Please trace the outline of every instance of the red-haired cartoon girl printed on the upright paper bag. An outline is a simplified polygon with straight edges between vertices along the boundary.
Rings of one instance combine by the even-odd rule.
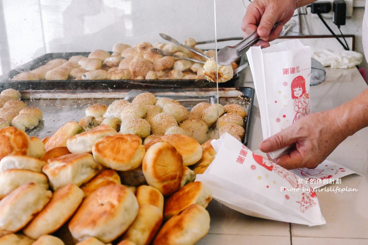
[[[307,115],[307,107],[309,103],[309,93],[305,90],[305,79],[297,76],[291,82],[291,98],[294,100],[294,110],[297,112],[293,123],[302,116]]]

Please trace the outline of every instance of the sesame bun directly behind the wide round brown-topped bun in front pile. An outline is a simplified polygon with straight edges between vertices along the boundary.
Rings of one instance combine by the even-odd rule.
[[[151,126],[149,126],[149,123],[143,118],[122,117],[120,133],[134,134],[141,138],[145,138],[151,133]]]

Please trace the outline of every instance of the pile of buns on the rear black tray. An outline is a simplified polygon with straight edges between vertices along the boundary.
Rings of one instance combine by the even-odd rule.
[[[193,38],[186,39],[184,44],[208,57],[215,55],[215,50],[203,51],[195,47],[197,42]],[[206,58],[201,55],[174,43],[158,42],[152,45],[142,42],[133,47],[116,43],[112,47],[112,54],[98,49],[92,51],[88,57],[75,55],[68,60],[57,58],[32,71],[22,72],[11,80],[205,79],[203,64],[162,56],[154,53],[151,48],[158,48],[202,62],[206,61]],[[233,69],[238,67],[234,62],[231,66]],[[231,78],[232,73],[227,80]]]

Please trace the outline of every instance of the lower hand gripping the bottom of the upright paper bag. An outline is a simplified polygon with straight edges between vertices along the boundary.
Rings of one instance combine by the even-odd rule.
[[[323,162],[350,131],[342,129],[332,111],[316,112],[265,139],[259,149],[272,152],[294,145],[291,152],[276,159],[286,169],[314,168]]]

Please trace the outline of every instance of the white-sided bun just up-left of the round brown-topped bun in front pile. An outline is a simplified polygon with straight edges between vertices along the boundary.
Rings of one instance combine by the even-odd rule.
[[[109,125],[103,124],[90,131],[68,138],[67,147],[71,153],[91,153],[93,145],[105,136],[117,134]]]

